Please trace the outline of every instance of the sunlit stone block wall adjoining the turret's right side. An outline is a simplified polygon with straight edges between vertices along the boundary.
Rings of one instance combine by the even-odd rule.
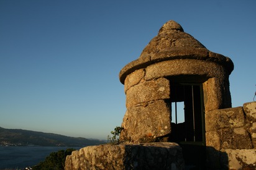
[[[256,168],[256,102],[245,103],[243,107],[206,111],[205,127],[211,167],[216,166],[216,160],[223,158],[223,154],[216,155],[211,151],[213,147],[226,154],[229,169]],[[223,163],[219,164],[223,166]]]

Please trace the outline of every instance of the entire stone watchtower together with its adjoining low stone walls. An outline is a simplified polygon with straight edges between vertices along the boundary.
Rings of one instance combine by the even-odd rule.
[[[73,151],[65,169],[255,169],[256,102],[231,108],[233,69],[168,21],[119,74],[120,142]]]

